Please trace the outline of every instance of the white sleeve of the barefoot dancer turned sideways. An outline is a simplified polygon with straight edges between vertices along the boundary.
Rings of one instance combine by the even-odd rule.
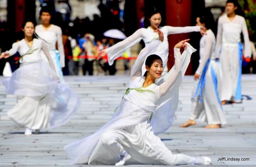
[[[212,52],[214,52],[214,50],[212,49],[212,38],[210,36],[206,36],[206,46],[204,49],[204,55],[200,56],[201,61],[196,70],[196,73],[200,76],[202,75],[204,66],[206,65],[208,59],[211,57]]]

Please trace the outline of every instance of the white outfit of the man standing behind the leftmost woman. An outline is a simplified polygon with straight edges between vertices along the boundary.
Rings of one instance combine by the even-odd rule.
[[[37,25],[35,32],[46,42],[50,55],[52,56],[55,69],[61,82],[63,81],[62,68],[65,67],[65,54],[64,46],[62,42],[62,30],[59,26],[51,25],[48,30],[45,30],[42,25]],[[56,50],[56,42],[58,44],[58,50]],[[49,63],[45,54],[41,52],[42,60]]]

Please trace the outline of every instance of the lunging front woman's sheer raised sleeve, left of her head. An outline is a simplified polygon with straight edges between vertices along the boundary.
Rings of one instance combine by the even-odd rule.
[[[140,51],[131,69],[131,74],[130,74],[131,81],[134,80],[136,77],[142,76],[142,66],[144,64],[146,56],[148,56],[149,53],[151,53],[151,51],[154,52],[154,50],[158,47],[160,43],[161,43],[160,40],[155,40]]]

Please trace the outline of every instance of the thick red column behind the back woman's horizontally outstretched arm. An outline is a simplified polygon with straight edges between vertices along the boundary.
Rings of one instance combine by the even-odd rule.
[[[191,26],[191,0],[166,0],[166,25]],[[190,38],[190,33],[171,34],[168,36],[169,60],[168,69],[174,65],[174,45],[179,41]],[[188,66],[186,75],[192,75],[192,65]]]

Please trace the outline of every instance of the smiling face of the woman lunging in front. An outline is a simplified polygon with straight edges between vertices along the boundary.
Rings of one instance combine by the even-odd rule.
[[[150,67],[146,66],[146,70],[148,71],[148,74],[151,75],[152,78],[159,79],[162,75],[162,72],[164,71],[164,68],[162,66],[162,60],[154,60]]]

